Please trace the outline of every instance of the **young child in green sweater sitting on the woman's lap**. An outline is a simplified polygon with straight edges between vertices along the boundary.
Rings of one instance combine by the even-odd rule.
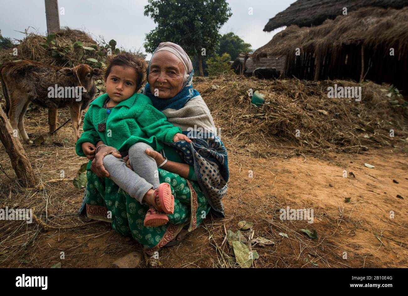
[[[144,225],[161,226],[169,221],[164,213],[174,212],[174,197],[170,184],[159,184],[157,164],[145,151],[160,151],[163,143],[191,140],[181,134],[180,127],[167,122],[166,116],[153,107],[148,96],[136,93],[145,73],[144,60],[133,54],[121,53],[108,59],[104,73],[106,94],[89,104],[84,132],[75,148],[79,156],[90,159],[87,170],[98,148],[103,146],[95,147],[94,143],[99,140],[118,149],[122,157],[129,155],[133,171],[126,167],[122,158],[112,154],[104,157],[104,167],[109,178],[130,196],[141,204],[153,205],[146,214]],[[164,213],[155,213],[155,210]]]

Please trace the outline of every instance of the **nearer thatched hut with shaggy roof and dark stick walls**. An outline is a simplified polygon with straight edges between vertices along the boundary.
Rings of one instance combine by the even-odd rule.
[[[366,7],[319,26],[292,25],[255,50],[252,59],[280,55],[288,57],[288,77],[356,81],[365,78],[393,83],[407,95],[408,7]]]

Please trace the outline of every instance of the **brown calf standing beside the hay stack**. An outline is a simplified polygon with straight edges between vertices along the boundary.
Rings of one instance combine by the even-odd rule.
[[[24,129],[24,114],[30,102],[49,111],[69,107],[75,140],[78,140],[82,113],[95,96],[93,78],[98,75],[98,68],[85,64],[58,68],[35,61],[4,63],[0,67],[0,81],[11,127],[15,131],[18,128],[23,140],[32,144]]]

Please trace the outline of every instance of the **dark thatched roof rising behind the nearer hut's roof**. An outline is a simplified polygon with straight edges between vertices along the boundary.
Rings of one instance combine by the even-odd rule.
[[[347,12],[350,12],[368,6],[401,9],[407,5],[407,0],[298,0],[271,18],[264,31],[271,32],[290,25],[317,26],[326,19],[341,15],[343,7],[347,7]]]

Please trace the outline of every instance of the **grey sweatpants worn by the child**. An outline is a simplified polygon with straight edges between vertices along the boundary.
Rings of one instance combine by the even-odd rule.
[[[126,167],[122,158],[109,154],[103,159],[109,178],[141,204],[146,204],[143,197],[147,191],[157,189],[160,184],[156,161],[146,154],[147,148],[154,150],[145,143],[135,143],[129,148],[129,161],[133,171]]]

